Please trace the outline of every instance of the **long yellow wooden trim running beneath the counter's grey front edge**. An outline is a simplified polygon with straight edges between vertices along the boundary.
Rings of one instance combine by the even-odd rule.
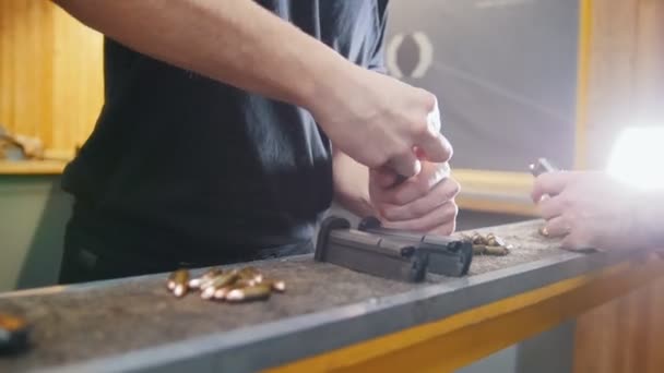
[[[664,262],[621,263],[269,372],[450,372],[664,276]]]

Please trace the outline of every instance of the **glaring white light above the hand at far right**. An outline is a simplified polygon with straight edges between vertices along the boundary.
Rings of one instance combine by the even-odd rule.
[[[664,127],[625,129],[614,145],[607,172],[641,190],[664,189]]]

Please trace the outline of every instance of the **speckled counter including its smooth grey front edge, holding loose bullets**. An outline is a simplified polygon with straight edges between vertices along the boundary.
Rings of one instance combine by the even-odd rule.
[[[198,294],[176,299],[165,288],[165,274],[2,294],[0,312],[24,315],[34,325],[34,345],[20,357],[0,358],[0,372],[163,372],[178,366],[179,354],[187,361],[213,359],[212,365],[204,365],[213,369],[262,369],[438,320],[607,263],[593,264],[586,255],[559,250],[556,241],[538,236],[538,225],[481,229],[501,236],[513,245],[512,252],[475,256],[469,277],[428,278],[417,285],[317,263],[306,255],[252,264],[287,282],[285,293],[265,302],[228,304],[203,301]],[[320,333],[325,338],[317,339],[324,340],[311,339]]]

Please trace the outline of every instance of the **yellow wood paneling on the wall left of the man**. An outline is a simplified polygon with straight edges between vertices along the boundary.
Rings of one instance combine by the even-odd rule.
[[[0,0],[0,123],[73,155],[103,104],[102,40],[50,1]]]

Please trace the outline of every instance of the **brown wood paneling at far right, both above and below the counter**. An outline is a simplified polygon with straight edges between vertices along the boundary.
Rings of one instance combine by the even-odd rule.
[[[664,125],[664,0],[593,0],[586,166],[604,167],[620,130]],[[664,372],[664,280],[578,320],[574,372]]]

